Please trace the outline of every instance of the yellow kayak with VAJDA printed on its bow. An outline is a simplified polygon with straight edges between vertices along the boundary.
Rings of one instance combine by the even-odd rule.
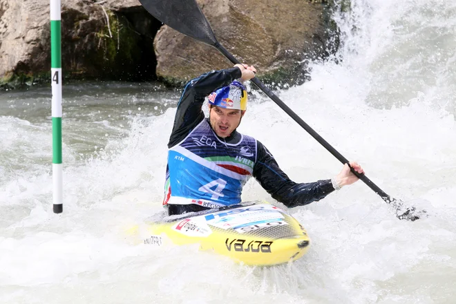
[[[145,244],[200,244],[246,265],[278,265],[301,258],[310,247],[303,226],[265,202],[244,202],[145,222]]]

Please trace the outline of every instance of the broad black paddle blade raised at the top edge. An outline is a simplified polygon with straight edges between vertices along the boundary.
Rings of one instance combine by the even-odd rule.
[[[217,44],[211,26],[194,0],[140,0],[156,19],[184,35],[214,46]]]

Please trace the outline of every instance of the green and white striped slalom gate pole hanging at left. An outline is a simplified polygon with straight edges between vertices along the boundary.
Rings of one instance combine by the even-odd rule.
[[[50,77],[53,90],[53,210],[63,211],[61,164],[61,0],[50,0]]]

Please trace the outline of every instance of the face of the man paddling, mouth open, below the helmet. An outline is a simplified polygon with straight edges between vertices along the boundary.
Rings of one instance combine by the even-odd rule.
[[[209,105],[209,113],[213,131],[216,131],[219,137],[225,138],[238,127],[240,118],[243,117],[245,111]]]

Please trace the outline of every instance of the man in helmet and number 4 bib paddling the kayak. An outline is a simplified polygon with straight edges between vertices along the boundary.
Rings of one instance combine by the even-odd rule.
[[[163,205],[169,215],[237,204],[251,176],[287,207],[321,200],[358,180],[345,164],[332,179],[293,182],[261,142],[236,131],[247,110],[243,82],[255,74],[254,66],[236,64],[201,75],[185,86],[168,143]],[[209,117],[202,111],[206,97]],[[363,173],[356,162],[350,166]]]

